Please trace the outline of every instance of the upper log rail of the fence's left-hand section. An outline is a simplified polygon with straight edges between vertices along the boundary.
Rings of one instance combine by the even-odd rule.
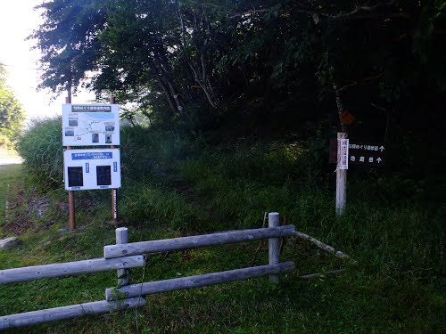
[[[65,262],[53,265],[35,265],[0,270],[0,284],[33,281],[43,278],[63,277],[81,273],[104,272],[144,266],[144,257],[94,258],[91,260]]]

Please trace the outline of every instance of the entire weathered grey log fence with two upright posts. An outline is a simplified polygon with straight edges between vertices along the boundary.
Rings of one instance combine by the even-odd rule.
[[[128,243],[128,229],[121,227],[116,229],[117,244],[105,246],[103,258],[0,270],[0,284],[117,270],[119,289],[106,289],[105,300],[102,301],[1,316],[0,330],[142,306],[145,305],[142,296],[153,293],[242,281],[260,276],[269,276],[270,281],[277,283],[279,274],[294,270],[293,262],[279,263],[279,239],[294,234],[293,225],[279,226],[277,212],[268,214],[268,228],[217,232],[167,240]],[[128,269],[144,266],[143,254],[262,239],[269,240],[268,265],[128,285]]]

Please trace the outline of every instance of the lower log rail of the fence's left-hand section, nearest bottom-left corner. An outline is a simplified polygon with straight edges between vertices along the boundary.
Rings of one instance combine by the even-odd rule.
[[[92,303],[48,308],[45,310],[27,312],[24,314],[5,315],[0,317],[0,330],[37,325],[43,322],[54,322],[56,320],[77,318],[87,314],[107,314],[112,311],[143,305],[145,305],[145,299],[136,297],[114,302],[102,300]]]

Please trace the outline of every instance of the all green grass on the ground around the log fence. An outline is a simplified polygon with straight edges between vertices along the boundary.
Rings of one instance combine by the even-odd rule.
[[[129,240],[260,227],[263,212],[277,210],[287,224],[343,250],[357,265],[291,239],[281,260],[293,260],[298,270],[282,276],[277,286],[260,278],[152,295],[137,310],[50,322],[20,332],[446,330],[443,208],[430,212],[410,199],[389,204],[385,198],[356,191],[360,184],[352,172],[349,206],[343,217],[336,217],[334,193],[325,174],[310,168],[320,157],[309,158],[301,145],[237,143],[228,151],[217,148],[194,157],[184,153],[186,144],[181,141],[154,142],[161,148],[151,143],[145,150],[135,143],[137,154],[132,153],[134,161],[126,166],[125,186],[119,191],[121,224],[128,226]],[[169,144],[175,148],[173,155]],[[135,171],[144,177],[137,179]],[[21,170],[15,173],[8,192],[12,201],[22,191],[45,197],[50,205],[43,216],[36,216],[22,208],[28,202],[18,203],[16,218],[32,224],[21,232],[20,247],[0,252],[0,269],[101,257],[103,246],[114,242],[108,191],[77,192],[81,228],[60,233],[68,220],[61,209],[65,191],[33,192],[32,184],[21,181]],[[0,174],[0,183],[6,178],[12,182],[11,177]],[[7,234],[10,224],[1,226]],[[136,283],[247,267],[259,244],[151,255],[145,259],[145,269],[132,269],[130,277]],[[268,252],[262,248],[257,265],[266,263]],[[335,278],[298,279],[341,267],[348,271]],[[114,272],[5,285],[0,289],[0,315],[101,300],[104,289],[115,285]]]

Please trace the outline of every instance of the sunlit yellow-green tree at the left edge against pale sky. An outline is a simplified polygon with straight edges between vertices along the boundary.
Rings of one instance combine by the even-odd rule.
[[[0,63],[0,146],[10,146],[25,120],[21,104],[6,86],[6,71]]]

